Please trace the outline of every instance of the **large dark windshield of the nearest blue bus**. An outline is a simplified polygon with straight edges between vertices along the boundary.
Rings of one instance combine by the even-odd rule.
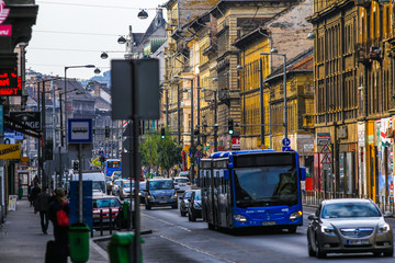
[[[296,170],[291,165],[236,168],[235,196],[240,208],[296,205]]]

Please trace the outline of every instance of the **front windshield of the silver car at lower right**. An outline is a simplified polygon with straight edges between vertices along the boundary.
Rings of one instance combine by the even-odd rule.
[[[323,207],[321,218],[380,217],[380,210],[371,203],[337,203]]]

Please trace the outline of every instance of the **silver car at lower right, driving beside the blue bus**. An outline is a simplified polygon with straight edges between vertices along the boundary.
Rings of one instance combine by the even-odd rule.
[[[371,199],[323,201],[307,229],[308,255],[372,252],[393,256],[393,229]]]

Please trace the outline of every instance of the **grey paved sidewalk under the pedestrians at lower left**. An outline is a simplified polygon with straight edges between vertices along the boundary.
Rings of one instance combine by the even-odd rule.
[[[48,235],[43,235],[40,215],[34,215],[26,199],[18,201],[16,210],[9,211],[5,222],[0,227],[0,262],[44,263],[48,240],[54,240],[52,222]],[[92,241],[89,253],[90,263],[110,262],[108,253]]]

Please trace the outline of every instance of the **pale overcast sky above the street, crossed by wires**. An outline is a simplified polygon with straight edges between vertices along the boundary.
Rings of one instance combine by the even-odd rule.
[[[38,14],[26,47],[26,69],[65,76],[65,67],[94,65],[110,70],[111,59],[122,59],[125,45],[121,35],[144,33],[155,18],[156,9],[167,0],[36,0]],[[148,19],[137,18],[145,9]],[[166,9],[163,8],[166,15]],[[165,16],[166,19],[166,16]],[[106,52],[108,59],[100,58]],[[94,68],[70,68],[67,78],[90,79]],[[100,73],[101,76],[102,73]]]

